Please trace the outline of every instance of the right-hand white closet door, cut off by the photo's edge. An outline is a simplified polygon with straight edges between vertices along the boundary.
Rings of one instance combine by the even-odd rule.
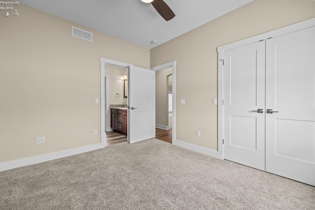
[[[315,185],[315,27],[266,41],[266,171]]]

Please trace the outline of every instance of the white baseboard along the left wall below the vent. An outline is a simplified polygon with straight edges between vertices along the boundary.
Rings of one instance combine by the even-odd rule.
[[[37,155],[33,157],[22,158],[18,160],[12,160],[8,162],[0,163],[0,171],[6,171],[9,169],[19,168],[22,166],[28,166],[36,163],[46,162],[62,157],[71,156],[74,154],[80,154],[87,151],[98,150],[104,148],[103,144],[89,145],[80,148],[74,148],[69,150],[57,151],[48,154]]]

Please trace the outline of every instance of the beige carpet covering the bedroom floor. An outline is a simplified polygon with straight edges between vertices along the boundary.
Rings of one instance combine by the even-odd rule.
[[[151,139],[0,172],[0,210],[315,210],[315,187]]]

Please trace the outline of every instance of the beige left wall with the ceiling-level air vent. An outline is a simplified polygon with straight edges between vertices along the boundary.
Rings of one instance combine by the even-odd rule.
[[[99,58],[150,68],[150,50],[20,4],[0,15],[0,162],[100,143]],[[93,42],[71,36],[93,32]],[[93,135],[93,130],[98,135]],[[36,145],[36,137],[46,144]]]

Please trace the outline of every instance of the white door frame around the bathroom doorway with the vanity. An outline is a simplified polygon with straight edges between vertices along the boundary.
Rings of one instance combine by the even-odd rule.
[[[133,65],[104,58],[99,58],[99,61],[100,61],[100,143],[105,147],[105,120],[106,125],[107,126],[109,125],[108,115],[105,111],[105,64],[116,65],[124,68],[131,68]],[[106,81],[106,83],[108,84],[108,81]],[[109,92],[107,89],[106,96],[108,96],[108,94]],[[106,108],[107,107],[109,107],[108,98],[106,100]]]

